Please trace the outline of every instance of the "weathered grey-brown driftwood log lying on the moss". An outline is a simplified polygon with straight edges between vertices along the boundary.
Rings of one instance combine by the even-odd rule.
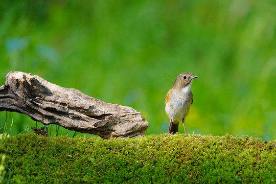
[[[137,137],[148,128],[141,112],[133,108],[106,103],[24,72],[8,73],[5,85],[0,87],[0,111],[4,110],[103,139]]]

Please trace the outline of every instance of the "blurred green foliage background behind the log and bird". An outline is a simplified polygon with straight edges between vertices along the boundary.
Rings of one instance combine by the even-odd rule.
[[[175,77],[191,72],[188,132],[276,139],[275,1],[2,0],[0,12],[0,85],[38,75],[141,111],[154,134],[168,129]],[[6,114],[12,135],[36,124]]]

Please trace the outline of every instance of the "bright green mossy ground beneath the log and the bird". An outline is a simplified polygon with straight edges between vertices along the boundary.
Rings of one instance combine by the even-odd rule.
[[[232,135],[1,140],[11,183],[274,183],[276,141]],[[5,176],[4,176],[5,178]]]

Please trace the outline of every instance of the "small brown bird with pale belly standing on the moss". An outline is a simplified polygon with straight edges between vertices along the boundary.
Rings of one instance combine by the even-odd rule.
[[[190,87],[193,79],[197,77],[189,72],[181,73],[176,77],[173,87],[169,90],[165,100],[165,110],[170,119],[167,134],[178,132],[179,121],[182,121],[186,134],[184,122],[194,100]]]

